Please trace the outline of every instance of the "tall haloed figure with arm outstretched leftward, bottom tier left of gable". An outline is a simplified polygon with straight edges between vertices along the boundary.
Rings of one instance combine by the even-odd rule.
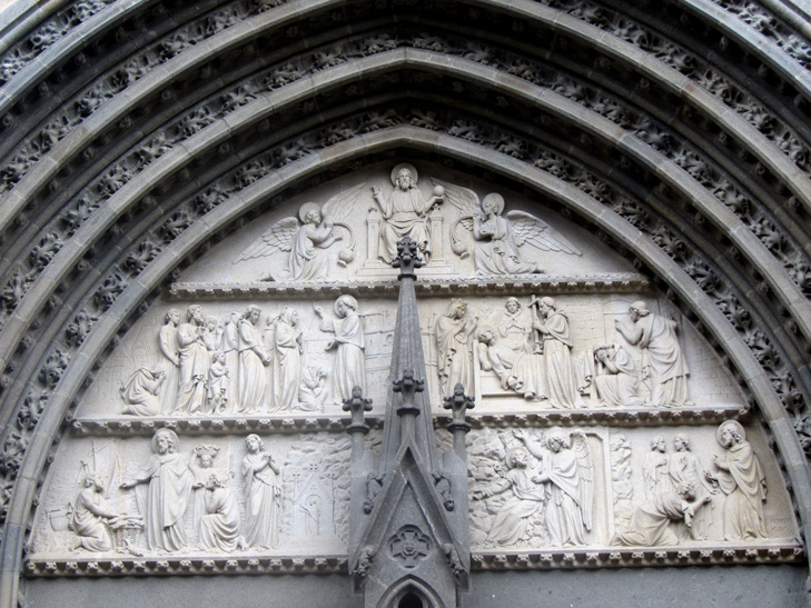
[[[152,456],[121,489],[136,488],[138,509],[144,517],[147,548],[179,551],[187,545],[184,516],[189,504],[194,476],[177,451],[178,438],[170,429],[152,436]]]

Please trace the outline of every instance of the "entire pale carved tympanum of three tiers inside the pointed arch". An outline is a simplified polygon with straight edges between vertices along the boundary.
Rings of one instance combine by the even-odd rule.
[[[374,465],[379,431],[369,433],[365,456],[360,439],[352,448],[336,431],[353,399],[362,399],[375,429],[392,416],[389,362],[406,345],[395,328],[398,271],[369,259],[376,247],[384,251],[386,221],[397,221],[402,236],[421,236],[418,250],[431,248],[418,270],[425,285],[408,305],[418,315],[409,326],[418,338],[409,339],[422,341],[425,358],[425,411],[416,422],[428,426],[416,437],[429,449],[417,459],[443,500],[454,502],[459,480],[468,486],[469,519],[455,512],[453,526],[469,538],[474,564],[506,567],[504,556],[520,556],[510,567],[526,568],[643,566],[661,555],[690,564],[795,558],[798,525],[763,432],[730,371],[666,300],[625,281],[627,263],[571,221],[513,192],[496,210],[507,227],[497,236],[455,231],[468,213],[485,222],[488,211],[461,209],[448,192],[462,191],[464,180],[472,200],[486,201],[489,188],[437,166],[409,168],[434,179],[402,189],[407,197],[395,199],[402,208],[387,219],[369,185],[382,188],[389,171],[378,165],[344,176],[259,217],[187,269],[172,300],[144,312],[59,446],[29,574],[332,570],[345,567],[348,551],[356,587],[365,588],[384,549],[352,536],[349,514],[358,510],[363,529],[378,494],[393,490],[385,466]],[[309,202],[318,200],[333,205],[319,212]],[[531,218],[546,246],[526,247],[513,230],[516,208],[534,209],[518,221]],[[278,218],[290,218],[287,241],[275,232],[287,221]],[[330,236],[338,225],[346,242]],[[267,243],[275,250],[264,250]],[[477,265],[481,250],[487,260],[513,256],[513,270],[526,271],[502,272],[506,262],[498,262],[487,267],[494,278]],[[296,279],[290,268],[310,270]],[[285,279],[263,280],[276,276]],[[471,290],[479,280],[500,288]],[[434,436],[429,417],[442,426],[443,398],[457,383],[475,398],[466,442],[464,433],[454,438],[467,452],[468,480],[443,472],[431,456],[434,442],[449,446],[451,437]],[[387,448],[386,437],[384,451],[394,451],[378,458],[390,466],[402,458],[399,439]],[[412,524],[393,534],[384,571],[397,564],[414,570],[439,542]],[[448,564],[456,559],[448,556]]]

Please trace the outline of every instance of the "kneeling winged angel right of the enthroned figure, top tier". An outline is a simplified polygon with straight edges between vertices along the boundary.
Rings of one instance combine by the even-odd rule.
[[[473,259],[479,275],[527,275],[543,272],[541,265],[525,258],[524,246],[540,251],[580,256],[580,250],[543,220],[524,211],[504,213],[504,197],[495,192],[482,200],[467,188],[434,179],[445,189],[447,201],[461,211],[451,229],[453,250],[465,258],[467,246],[459,238],[459,225],[473,232]],[[481,211],[479,211],[481,209]]]

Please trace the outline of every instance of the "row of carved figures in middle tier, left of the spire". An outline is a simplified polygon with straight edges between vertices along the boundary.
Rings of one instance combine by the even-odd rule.
[[[343,402],[354,386],[365,387],[364,331],[357,300],[340,296],[330,318],[314,307],[320,330],[334,335],[332,373],[305,366],[299,313],[286,307],[266,318],[248,306],[240,316],[206,318],[198,305],[188,307],[186,322],[170,310],[160,328],[162,363],[140,368],[121,387],[122,413],[132,416],[200,416],[315,410]]]

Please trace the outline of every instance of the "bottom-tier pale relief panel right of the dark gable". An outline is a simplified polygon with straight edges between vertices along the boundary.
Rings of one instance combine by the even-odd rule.
[[[797,535],[760,431],[734,420],[666,430],[484,429],[468,443],[474,550],[749,545]]]

